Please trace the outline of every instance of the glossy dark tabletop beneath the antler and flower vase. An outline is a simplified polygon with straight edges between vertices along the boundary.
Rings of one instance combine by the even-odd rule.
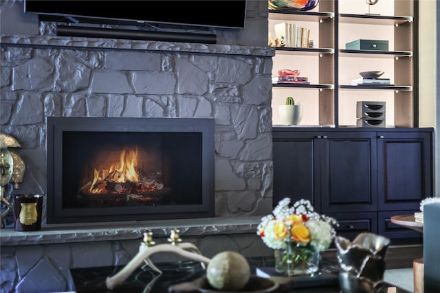
[[[261,281],[256,277],[256,269],[273,268],[274,259],[272,257],[250,257],[252,281]],[[70,273],[74,281],[76,293],[85,292],[133,292],[133,293],[184,293],[184,292],[215,292],[206,285],[205,269],[197,261],[178,261],[155,263],[155,266],[162,270],[158,274],[148,266],[140,266],[120,285],[113,290],[108,290],[105,281],[107,277],[122,270],[124,266],[106,266],[96,268],[75,268]],[[322,274],[316,277],[296,277],[285,278],[271,275],[270,279],[279,284],[276,290],[267,292],[322,292],[340,293],[338,285],[338,265],[327,259],[322,259]],[[264,281],[264,280],[263,280]],[[392,285],[386,284],[387,287]],[[393,287],[394,288],[394,287]],[[219,291],[217,291],[219,292]],[[243,292],[256,292],[243,291]],[[259,292],[262,292],[259,290]],[[396,288],[396,293],[409,293],[401,288]]]

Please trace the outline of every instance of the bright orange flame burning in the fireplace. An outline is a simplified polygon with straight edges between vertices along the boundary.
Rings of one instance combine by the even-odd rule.
[[[104,191],[104,187],[100,186],[99,182],[107,179],[116,183],[125,183],[126,181],[137,182],[139,175],[137,169],[137,149],[122,150],[118,164],[112,164],[109,169],[94,169],[94,180],[90,185],[89,191],[92,194],[98,194]]]

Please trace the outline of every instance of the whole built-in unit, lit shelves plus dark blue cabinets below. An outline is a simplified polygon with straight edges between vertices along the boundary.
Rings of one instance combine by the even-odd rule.
[[[350,239],[371,232],[393,244],[421,242],[417,231],[390,222],[402,211],[418,211],[421,200],[432,196],[434,182],[434,131],[418,127],[416,5],[320,0],[316,12],[270,10],[270,28],[291,21],[311,27],[317,40],[313,48],[278,47],[272,59],[273,77],[279,69],[298,69],[310,81],[272,87],[274,204],[285,197],[311,200],[318,211],[336,218],[338,234]],[[379,47],[347,49],[355,40]],[[363,71],[384,71],[380,78],[390,84],[352,85]],[[287,96],[304,104],[298,126],[278,124],[277,106]],[[364,110],[365,104],[384,105],[383,112],[382,106],[373,112],[381,120]]]

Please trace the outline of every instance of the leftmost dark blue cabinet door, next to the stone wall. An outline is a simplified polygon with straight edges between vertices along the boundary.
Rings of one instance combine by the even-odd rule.
[[[320,211],[319,165],[316,165],[314,134],[308,132],[274,132],[274,205],[283,198],[292,202],[304,198]],[[319,143],[319,141],[318,141]],[[317,184],[318,183],[318,184]]]

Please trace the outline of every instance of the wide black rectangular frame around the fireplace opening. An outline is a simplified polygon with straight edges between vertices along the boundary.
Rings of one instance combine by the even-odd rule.
[[[214,119],[47,117],[47,224],[214,217]],[[201,133],[201,204],[63,208],[63,132]]]

